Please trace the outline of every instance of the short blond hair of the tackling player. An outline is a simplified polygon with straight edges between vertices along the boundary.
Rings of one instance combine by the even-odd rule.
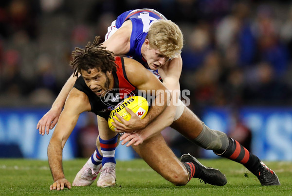
[[[171,20],[156,20],[150,26],[146,39],[152,49],[169,58],[178,57],[183,48],[183,33]]]

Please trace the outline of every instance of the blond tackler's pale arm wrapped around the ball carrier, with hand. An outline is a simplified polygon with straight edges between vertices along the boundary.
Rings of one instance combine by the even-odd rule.
[[[180,96],[180,76],[182,72],[183,61],[181,56],[172,59],[169,64],[165,64],[163,69],[159,71],[165,87],[170,90],[172,99],[170,104],[165,108],[165,110],[146,128],[136,131],[135,133],[126,133],[120,140],[122,145],[127,143],[127,146],[131,144],[139,145],[143,143],[144,140],[150,138],[157,132],[164,130],[165,127],[171,125],[174,120],[176,113],[176,104]]]

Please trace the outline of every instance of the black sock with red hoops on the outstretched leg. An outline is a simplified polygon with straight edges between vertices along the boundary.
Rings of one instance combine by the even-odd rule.
[[[250,153],[245,147],[232,138],[229,138],[229,145],[223,154],[214,153],[243,164],[253,174],[256,173],[256,170],[261,165],[261,161],[256,155]]]

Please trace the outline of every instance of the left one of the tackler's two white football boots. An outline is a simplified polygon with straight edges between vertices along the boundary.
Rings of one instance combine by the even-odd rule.
[[[96,168],[92,168],[88,162],[80,169],[75,179],[73,180],[72,186],[89,186],[97,177],[102,164],[97,165]]]

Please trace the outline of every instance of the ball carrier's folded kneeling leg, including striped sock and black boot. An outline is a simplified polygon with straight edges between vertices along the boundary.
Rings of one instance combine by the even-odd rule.
[[[226,177],[219,170],[203,166],[190,154],[185,154],[181,161],[178,160],[161,133],[133,148],[152,169],[174,185],[185,185],[191,178],[200,178],[205,183],[217,186],[227,183]]]

